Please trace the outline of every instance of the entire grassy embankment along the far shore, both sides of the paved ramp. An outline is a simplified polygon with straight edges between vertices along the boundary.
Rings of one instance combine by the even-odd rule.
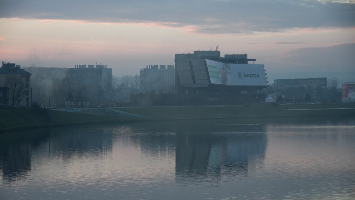
[[[138,120],[355,115],[355,109],[341,108],[355,108],[355,104],[288,104],[281,105],[280,107],[272,107],[266,104],[250,104],[236,106],[115,108],[151,118],[101,116],[47,109],[34,110],[32,108],[0,107],[0,131],[42,126],[114,123]]]

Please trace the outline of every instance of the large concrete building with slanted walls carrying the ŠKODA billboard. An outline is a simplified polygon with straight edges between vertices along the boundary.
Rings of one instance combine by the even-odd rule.
[[[257,90],[267,86],[267,78],[264,65],[255,61],[247,54],[222,57],[218,50],[175,54],[176,93],[256,101],[250,98],[257,98]]]

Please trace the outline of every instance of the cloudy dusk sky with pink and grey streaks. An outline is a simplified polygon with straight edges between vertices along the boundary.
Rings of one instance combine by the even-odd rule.
[[[248,54],[274,79],[355,82],[355,0],[0,0],[0,60],[135,75],[175,54]]]

